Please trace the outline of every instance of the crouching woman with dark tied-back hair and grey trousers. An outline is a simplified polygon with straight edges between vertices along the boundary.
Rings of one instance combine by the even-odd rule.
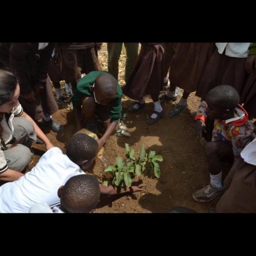
[[[0,70],[0,180],[14,181],[24,176],[20,173],[30,163],[28,142],[36,142],[38,136],[53,147],[33,119],[23,111],[18,101],[19,85],[15,75]]]

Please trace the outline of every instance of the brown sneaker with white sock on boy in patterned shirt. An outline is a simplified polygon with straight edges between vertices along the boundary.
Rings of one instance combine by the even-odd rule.
[[[212,186],[211,184],[197,190],[193,194],[193,199],[200,203],[208,203],[215,198],[221,196],[225,192],[225,187],[217,188]]]

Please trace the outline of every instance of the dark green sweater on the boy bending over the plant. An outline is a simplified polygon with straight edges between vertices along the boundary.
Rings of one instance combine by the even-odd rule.
[[[81,102],[83,97],[94,97],[93,91],[91,90],[91,86],[93,86],[96,78],[103,73],[108,73],[106,71],[92,71],[88,75],[84,76],[78,83],[77,88],[74,92],[74,95],[72,96],[72,102],[73,106],[76,108],[81,108]],[[118,122],[118,120],[121,118],[121,112],[122,112],[122,99],[123,93],[122,89],[116,81],[116,96],[111,101],[111,108],[110,108],[110,122]]]

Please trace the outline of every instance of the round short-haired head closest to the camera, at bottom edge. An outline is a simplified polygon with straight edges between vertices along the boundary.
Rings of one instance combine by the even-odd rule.
[[[99,182],[94,176],[73,176],[62,188],[60,208],[67,213],[87,213],[95,209],[99,197]]]

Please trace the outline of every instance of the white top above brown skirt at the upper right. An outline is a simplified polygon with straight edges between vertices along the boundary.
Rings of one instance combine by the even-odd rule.
[[[229,57],[246,58],[249,53],[250,42],[216,42],[218,52]]]

